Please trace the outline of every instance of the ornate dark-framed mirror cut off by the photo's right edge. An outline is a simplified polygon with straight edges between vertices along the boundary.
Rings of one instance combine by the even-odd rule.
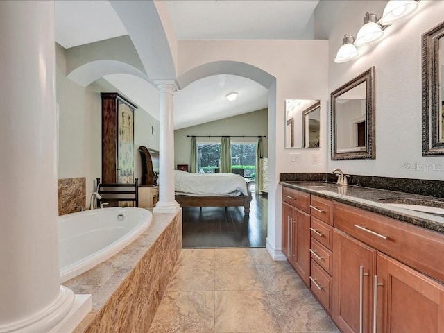
[[[444,22],[422,34],[422,155],[444,155]]]

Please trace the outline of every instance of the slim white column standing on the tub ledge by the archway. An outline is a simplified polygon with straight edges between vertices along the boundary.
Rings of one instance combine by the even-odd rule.
[[[180,209],[174,200],[173,96],[177,85],[170,81],[157,87],[160,90],[159,201],[153,212],[175,213]]]

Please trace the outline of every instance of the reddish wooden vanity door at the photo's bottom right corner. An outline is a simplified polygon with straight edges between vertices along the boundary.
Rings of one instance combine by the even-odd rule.
[[[444,285],[377,255],[377,332],[444,332]]]

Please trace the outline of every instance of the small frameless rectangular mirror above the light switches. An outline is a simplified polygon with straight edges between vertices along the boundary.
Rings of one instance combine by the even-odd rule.
[[[285,148],[318,148],[321,101],[285,100]]]

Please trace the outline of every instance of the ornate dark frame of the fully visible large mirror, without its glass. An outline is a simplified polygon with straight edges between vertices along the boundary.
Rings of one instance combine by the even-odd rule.
[[[366,149],[360,151],[338,152],[337,145],[337,110],[336,99],[345,92],[357,87],[361,83],[366,83]],[[371,67],[356,78],[350,80],[345,85],[339,87],[331,94],[331,143],[332,143],[332,160],[359,160],[359,159],[375,159],[375,67]]]

